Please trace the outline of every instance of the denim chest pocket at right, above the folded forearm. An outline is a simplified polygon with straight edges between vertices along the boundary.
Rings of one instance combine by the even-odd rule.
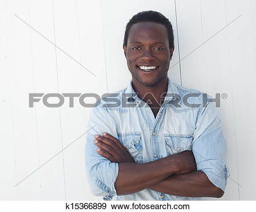
[[[192,150],[192,135],[164,135],[164,145],[167,155],[177,154],[185,150]]]

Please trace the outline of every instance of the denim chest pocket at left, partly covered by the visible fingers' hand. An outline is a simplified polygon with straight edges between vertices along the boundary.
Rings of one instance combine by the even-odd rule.
[[[119,141],[123,144],[135,163],[142,162],[141,132],[118,133]]]

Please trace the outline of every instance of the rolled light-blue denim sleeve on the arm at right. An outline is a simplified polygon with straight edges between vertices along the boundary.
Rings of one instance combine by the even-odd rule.
[[[221,126],[213,102],[200,108],[193,134],[192,151],[197,170],[203,171],[215,186],[225,191],[229,170],[225,162],[226,140]]]

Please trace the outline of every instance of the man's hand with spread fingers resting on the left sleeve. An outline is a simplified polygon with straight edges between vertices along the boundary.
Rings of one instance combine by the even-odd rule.
[[[101,135],[94,136],[96,138],[95,145],[101,148],[97,148],[98,154],[109,159],[110,162],[134,163],[133,157],[117,138],[108,133],[102,133],[102,135],[103,137]]]

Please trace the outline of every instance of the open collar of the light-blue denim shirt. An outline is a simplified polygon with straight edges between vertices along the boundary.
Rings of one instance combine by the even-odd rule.
[[[167,94],[164,97],[164,102],[174,100],[175,98],[180,101],[180,95],[179,95],[179,91],[177,90],[177,87],[171,81],[170,77],[167,77],[167,78],[168,78],[168,88],[167,88]],[[128,101],[134,101],[134,100],[142,101],[141,99],[139,99],[138,95],[134,91],[132,82],[133,82],[133,80],[131,79],[130,82],[128,83],[126,91],[125,91],[127,100]]]

